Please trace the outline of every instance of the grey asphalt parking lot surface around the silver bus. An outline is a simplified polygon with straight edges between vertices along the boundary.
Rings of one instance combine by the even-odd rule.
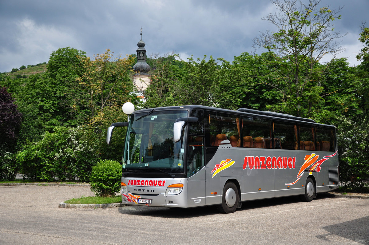
[[[214,207],[59,208],[89,187],[0,186],[0,244],[369,244],[369,199],[320,195]]]

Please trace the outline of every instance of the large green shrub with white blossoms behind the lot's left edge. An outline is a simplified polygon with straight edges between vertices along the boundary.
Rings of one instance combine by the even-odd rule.
[[[81,139],[87,133],[82,127],[59,127],[53,133],[46,131],[39,141],[25,144],[17,153],[23,178],[44,181],[77,178],[88,182],[99,155],[90,142]]]

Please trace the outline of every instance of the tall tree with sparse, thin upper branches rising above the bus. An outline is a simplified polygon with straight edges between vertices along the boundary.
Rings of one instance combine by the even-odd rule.
[[[342,47],[334,40],[344,35],[333,31],[333,24],[340,18],[338,10],[318,8],[320,0],[309,0],[307,4],[295,0],[272,0],[279,12],[270,13],[264,20],[274,24],[275,32],[261,32],[254,39],[255,47],[265,48],[275,55],[279,69],[275,68],[264,82],[276,88],[283,95],[279,110],[297,116],[307,116],[311,110],[301,113],[303,101],[319,104],[321,68],[318,62],[327,54],[335,56]],[[308,90],[308,91],[306,91]],[[284,104],[284,105],[283,105]]]

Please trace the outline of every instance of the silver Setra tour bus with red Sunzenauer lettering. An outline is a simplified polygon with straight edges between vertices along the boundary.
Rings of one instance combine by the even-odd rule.
[[[336,130],[288,114],[205,106],[134,111],[127,127],[122,203],[191,208],[317,193],[339,187]]]

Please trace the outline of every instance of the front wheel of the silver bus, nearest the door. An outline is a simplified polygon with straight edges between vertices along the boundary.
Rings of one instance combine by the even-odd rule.
[[[228,182],[223,188],[222,204],[218,206],[221,213],[234,213],[239,203],[237,186],[233,182]]]

